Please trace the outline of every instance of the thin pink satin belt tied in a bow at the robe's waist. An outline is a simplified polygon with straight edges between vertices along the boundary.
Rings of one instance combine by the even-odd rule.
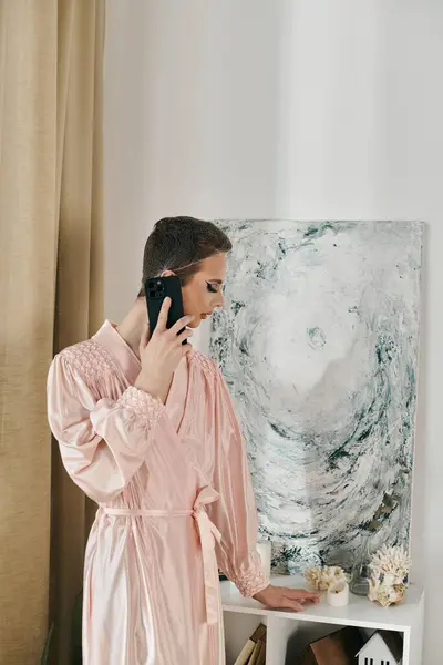
[[[132,510],[130,508],[106,508],[101,510],[106,515],[123,518],[176,518],[192,516],[197,525],[200,538],[203,574],[205,581],[206,621],[214,625],[219,620],[219,582],[218,566],[215,554],[215,543],[220,542],[222,534],[217,526],[209,520],[205,505],[214,503],[219,498],[218,492],[212,487],[200,490],[195,500],[193,510]]]

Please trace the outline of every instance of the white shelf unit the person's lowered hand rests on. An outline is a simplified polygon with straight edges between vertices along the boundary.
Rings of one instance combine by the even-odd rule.
[[[301,577],[277,575],[271,583],[281,586],[306,587]],[[267,625],[266,665],[295,665],[303,647],[342,626],[357,626],[367,636],[375,630],[403,634],[402,665],[422,665],[424,593],[410,585],[405,601],[383,608],[365,597],[350,594],[349,605],[330,607],[320,604],[302,613],[267,610],[251,598],[244,598],[231,582],[222,582],[222,603],[225,621],[227,665],[233,665],[247,638],[264,623]]]

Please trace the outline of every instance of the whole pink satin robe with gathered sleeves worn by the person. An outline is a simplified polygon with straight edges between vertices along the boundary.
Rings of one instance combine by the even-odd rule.
[[[99,511],[84,566],[84,665],[225,663],[218,570],[251,596],[268,581],[231,401],[194,350],[163,405],[134,387],[141,365],[106,321],[56,356],[51,429]]]

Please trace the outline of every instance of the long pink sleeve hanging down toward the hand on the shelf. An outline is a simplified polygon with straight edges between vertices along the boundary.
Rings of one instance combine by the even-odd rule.
[[[225,380],[215,378],[214,488],[220,499],[208,508],[222,533],[218,565],[244,596],[253,596],[269,584],[257,552],[258,519],[248,460],[240,428]]]

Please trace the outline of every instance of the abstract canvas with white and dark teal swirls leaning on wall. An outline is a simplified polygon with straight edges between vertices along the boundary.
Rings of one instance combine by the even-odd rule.
[[[217,221],[233,241],[210,354],[276,572],[409,543],[423,226]]]

